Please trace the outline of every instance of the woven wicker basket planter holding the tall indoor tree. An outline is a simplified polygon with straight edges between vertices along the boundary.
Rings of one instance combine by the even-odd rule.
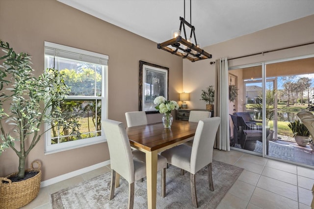
[[[38,164],[38,168],[33,168],[33,163]],[[38,194],[41,182],[41,163],[33,161],[30,169],[25,172],[38,172],[35,176],[20,181],[11,182],[8,178],[16,176],[18,172],[12,173],[5,178],[0,178],[0,209],[18,209],[31,202]]]

